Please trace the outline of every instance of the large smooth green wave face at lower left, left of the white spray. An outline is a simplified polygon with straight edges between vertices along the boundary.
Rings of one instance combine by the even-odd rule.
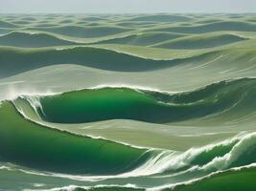
[[[80,137],[36,124],[5,101],[0,106],[0,160],[65,174],[114,175],[150,157],[145,149]]]

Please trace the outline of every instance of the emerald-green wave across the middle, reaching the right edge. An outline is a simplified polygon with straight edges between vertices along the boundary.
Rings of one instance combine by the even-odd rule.
[[[170,95],[129,88],[85,89],[57,96],[26,96],[39,116],[50,122],[81,123],[108,119],[134,119],[168,123],[221,114],[227,119],[256,110],[256,80],[221,81],[202,89]],[[37,104],[39,103],[39,104]]]

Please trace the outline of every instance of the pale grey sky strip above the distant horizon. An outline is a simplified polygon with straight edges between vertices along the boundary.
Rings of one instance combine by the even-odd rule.
[[[0,0],[5,12],[256,12],[256,0]]]

